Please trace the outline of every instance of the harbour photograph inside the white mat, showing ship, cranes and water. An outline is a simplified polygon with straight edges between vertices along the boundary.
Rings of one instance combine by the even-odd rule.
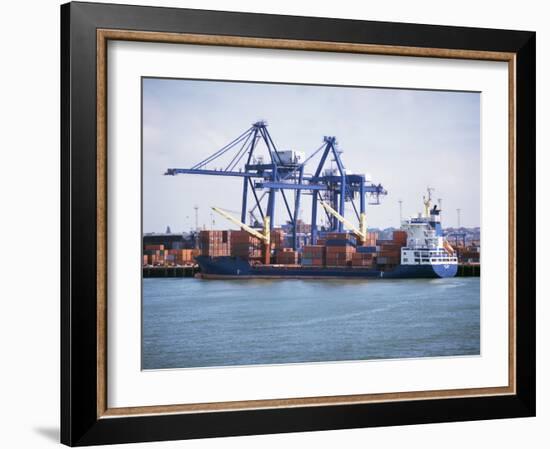
[[[141,108],[142,370],[481,355],[480,92],[142,77]]]

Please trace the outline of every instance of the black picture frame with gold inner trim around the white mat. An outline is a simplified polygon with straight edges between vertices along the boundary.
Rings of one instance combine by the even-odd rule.
[[[535,414],[535,33],[93,3],[61,7],[61,441],[71,446]],[[509,385],[109,409],[106,45],[194,43],[506,61]],[[517,201],[521,198],[521,201]]]

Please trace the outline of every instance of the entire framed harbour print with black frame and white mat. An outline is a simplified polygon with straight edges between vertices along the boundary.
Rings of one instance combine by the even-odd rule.
[[[535,414],[535,33],[61,19],[63,443]]]

